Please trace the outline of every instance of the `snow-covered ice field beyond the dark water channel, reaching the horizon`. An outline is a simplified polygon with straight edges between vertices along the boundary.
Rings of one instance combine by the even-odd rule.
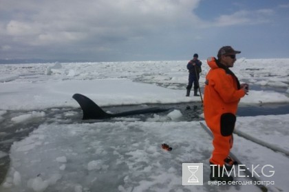
[[[100,106],[200,101],[200,97],[184,97],[188,81],[186,62],[55,62],[1,65],[0,73],[6,75],[0,75],[0,79],[2,82],[10,82],[0,84],[0,110],[78,107],[72,99],[74,93],[87,95]],[[200,86],[203,92],[209,67],[206,60],[202,62]],[[241,99],[241,102],[289,102],[288,62],[289,59],[237,60],[234,73],[240,82],[246,82],[251,87],[249,95]],[[271,91],[274,89],[281,91]]]

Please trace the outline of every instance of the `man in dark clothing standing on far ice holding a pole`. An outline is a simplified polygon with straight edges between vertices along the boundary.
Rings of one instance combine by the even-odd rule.
[[[189,84],[186,86],[186,97],[190,96],[191,88],[193,86],[193,96],[197,95],[197,89],[199,88],[200,73],[202,72],[202,62],[198,60],[197,53],[193,55],[193,59],[186,64],[186,69],[189,70]]]

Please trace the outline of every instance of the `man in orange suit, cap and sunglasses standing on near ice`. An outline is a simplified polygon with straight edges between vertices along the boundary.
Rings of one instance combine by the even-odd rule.
[[[233,177],[224,175],[232,168],[234,161],[229,157],[233,147],[233,130],[239,100],[247,95],[248,84],[240,84],[229,69],[234,66],[236,54],[231,46],[222,47],[217,59],[208,58],[211,67],[206,75],[204,87],[204,119],[213,132],[213,152],[210,159],[210,180],[231,181]]]

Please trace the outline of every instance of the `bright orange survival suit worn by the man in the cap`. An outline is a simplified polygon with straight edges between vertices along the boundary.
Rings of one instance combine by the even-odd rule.
[[[211,70],[206,75],[204,88],[204,119],[214,136],[210,162],[222,166],[233,147],[237,105],[245,92],[228,67],[213,57],[207,62]]]

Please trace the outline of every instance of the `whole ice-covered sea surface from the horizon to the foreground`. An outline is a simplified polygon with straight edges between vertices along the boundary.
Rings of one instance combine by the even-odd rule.
[[[201,98],[184,96],[186,63],[0,64],[0,167],[8,166],[0,191],[261,191],[254,184],[208,184],[211,138],[200,126]],[[202,63],[201,88],[208,72]],[[252,114],[240,115],[236,130],[253,138],[235,134],[232,152],[249,167],[259,165],[255,171],[270,182],[269,191],[288,191],[289,59],[240,58],[232,71],[250,85],[239,106]],[[200,118],[188,119],[175,108],[82,121],[74,93],[109,112],[180,104],[199,108]],[[266,115],[256,116],[250,107],[266,108]],[[173,150],[165,151],[162,143]],[[182,163],[204,163],[204,185],[182,185]],[[262,174],[266,165],[273,176]]]

